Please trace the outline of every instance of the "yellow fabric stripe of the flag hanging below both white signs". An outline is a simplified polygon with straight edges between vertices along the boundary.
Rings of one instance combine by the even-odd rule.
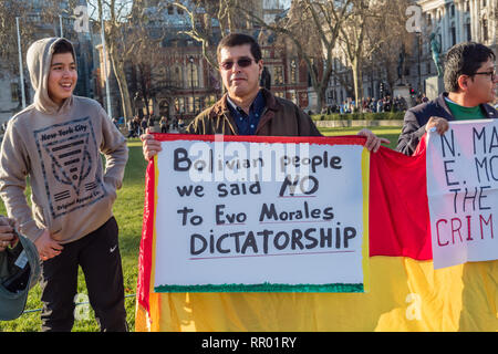
[[[136,331],[498,331],[498,261],[370,259],[369,293],[151,294]]]

